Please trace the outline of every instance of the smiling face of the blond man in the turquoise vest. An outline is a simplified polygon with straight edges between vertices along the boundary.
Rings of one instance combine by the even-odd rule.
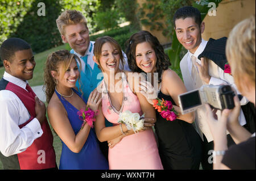
[[[84,23],[69,24],[64,28],[65,35],[61,35],[61,38],[65,43],[83,56],[89,47],[89,29]]]

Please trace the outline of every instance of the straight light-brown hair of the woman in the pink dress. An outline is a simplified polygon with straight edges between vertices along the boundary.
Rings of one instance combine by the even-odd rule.
[[[97,60],[98,64],[100,65],[100,69],[102,70],[102,67],[100,64],[101,48],[105,43],[110,43],[113,45],[113,47],[117,48],[119,56],[120,56],[120,60],[121,60],[121,65],[123,68],[123,53],[122,53],[122,49],[121,49],[120,45],[112,37],[102,36],[102,37],[98,37],[95,40],[94,49],[93,49],[94,56],[96,57],[96,60]]]

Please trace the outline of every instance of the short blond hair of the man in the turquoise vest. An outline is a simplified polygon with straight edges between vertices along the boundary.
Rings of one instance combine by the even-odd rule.
[[[85,16],[77,10],[65,10],[56,19],[56,24],[61,35],[65,35],[65,26],[77,23],[84,23],[85,27],[87,27]]]

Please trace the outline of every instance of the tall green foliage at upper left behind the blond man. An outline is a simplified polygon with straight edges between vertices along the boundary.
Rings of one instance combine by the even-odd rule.
[[[45,5],[45,16],[38,15],[38,4]],[[76,9],[85,15],[91,32],[96,30],[92,20],[99,0],[2,0],[0,1],[0,44],[8,37],[26,40],[39,53],[63,44],[56,26],[56,19],[66,9]]]

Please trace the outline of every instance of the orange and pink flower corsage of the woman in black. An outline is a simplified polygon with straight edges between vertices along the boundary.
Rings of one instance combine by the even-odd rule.
[[[160,115],[167,121],[174,121],[177,118],[177,111],[172,107],[172,102],[169,100],[160,100],[156,98],[153,100],[153,107],[160,112]]]

